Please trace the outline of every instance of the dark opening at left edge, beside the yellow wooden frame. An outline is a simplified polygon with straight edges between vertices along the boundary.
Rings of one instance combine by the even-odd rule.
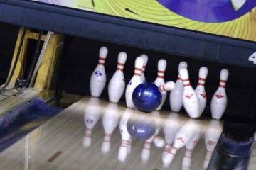
[[[0,23],[0,84],[4,84],[14,53],[18,27]]]

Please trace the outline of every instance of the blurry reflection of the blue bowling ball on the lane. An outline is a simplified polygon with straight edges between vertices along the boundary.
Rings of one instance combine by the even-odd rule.
[[[156,123],[146,118],[130,118],[127,122],[127,131],[133,138],[148,140],[156,132]]]

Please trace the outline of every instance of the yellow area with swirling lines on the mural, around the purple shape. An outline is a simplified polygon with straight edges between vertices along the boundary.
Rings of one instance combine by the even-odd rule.
[[[37,0],[40,1],[40,0]],[[60,0],[61,1],[61,0]],[[64,0],[63,0],[64,1]],[[67,0],[65,0],[67,1]],[[224,23],[192,21],[169,11],[156,0],[68,0],[75,8],[111,16],[131,18],[166,26],[256,41],[256,8],[238,19]]]

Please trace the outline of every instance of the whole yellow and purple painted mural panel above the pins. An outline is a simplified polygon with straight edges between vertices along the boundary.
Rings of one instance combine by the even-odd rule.
[[[33,0],[256,41],[256,0]]]

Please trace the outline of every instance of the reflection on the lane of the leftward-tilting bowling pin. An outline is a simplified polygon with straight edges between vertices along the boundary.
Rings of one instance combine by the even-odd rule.
[[[174,145],[169,150],[169,153],[165,155],[163,159],[164,167],[168,167],[174,159],[175,154],[178,149],[184,147],[190,142],[193,137],[201,131],[201,125],[198,123],[198,120],[188,120],[184,125],[182,125],[181,129],[178,130],[175,139]]]

